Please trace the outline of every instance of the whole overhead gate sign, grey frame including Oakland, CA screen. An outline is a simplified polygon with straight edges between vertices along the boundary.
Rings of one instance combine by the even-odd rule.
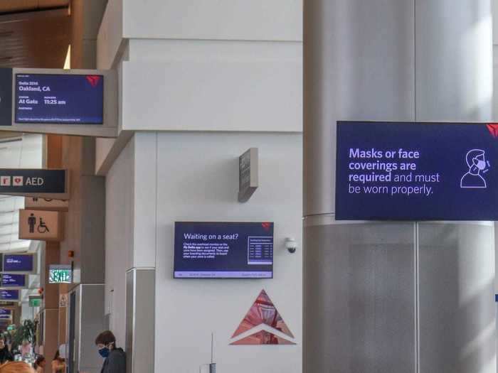
[[[11,107],[3,131],[117,136],[115,71],[14,68],[3,75]]]

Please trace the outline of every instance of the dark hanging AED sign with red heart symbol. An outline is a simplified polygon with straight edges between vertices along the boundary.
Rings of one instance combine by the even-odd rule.
[[[67,195],[68,172],[39,168],[0,168],[0,194]]]

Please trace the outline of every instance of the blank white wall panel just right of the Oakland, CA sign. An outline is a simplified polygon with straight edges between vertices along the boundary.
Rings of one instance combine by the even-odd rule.
[[[302,64],[170,61],[122,66],[122,129],[302,131]]]

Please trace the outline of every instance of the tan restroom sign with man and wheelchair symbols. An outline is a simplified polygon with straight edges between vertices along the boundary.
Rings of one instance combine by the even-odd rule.
[[[61,218],[58,211],[19,210],[19,239],[62,241]]]

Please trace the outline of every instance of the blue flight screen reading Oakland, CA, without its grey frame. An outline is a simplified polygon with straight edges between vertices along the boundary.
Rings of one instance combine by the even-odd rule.
[[[102,75],[16,74],[16,123],[102,124]]]

